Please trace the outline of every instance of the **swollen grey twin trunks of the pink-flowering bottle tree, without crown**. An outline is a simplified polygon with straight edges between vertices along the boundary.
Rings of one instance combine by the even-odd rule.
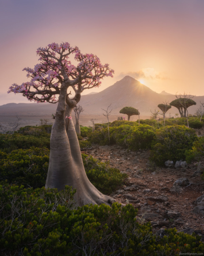
[[[86,176],[74,124],[72,119],[65,119],[65,116],[71,116],[74,107],[74,104],[70,107],[66,103],[65,91],[67,91],[66,88],[61,89],[55,122],[52,126],[50,160],[45,187],[62,190],[68,185],[76,188],[74,198],[80,206],[89,203],[110,205],[111,198],[95,188]]]

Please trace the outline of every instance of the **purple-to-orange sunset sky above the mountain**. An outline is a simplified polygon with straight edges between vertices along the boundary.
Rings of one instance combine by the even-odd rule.
[[[204,95],[203,0],[0,0],[0,105],[28,102],[7,94],[27,82],[36,49],[69,42],[115,70],[101,91],[125,75],[152,90]]]

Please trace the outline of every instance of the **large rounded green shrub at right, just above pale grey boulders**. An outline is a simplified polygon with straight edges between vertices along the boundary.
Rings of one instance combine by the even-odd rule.
[[[152,143],[150,160],[159,166],[165,161],[183,161],[186,151],[192,148],[193,142],[198,140],[193,129],[186,126],[167,126],[156,130],[156,137]]]

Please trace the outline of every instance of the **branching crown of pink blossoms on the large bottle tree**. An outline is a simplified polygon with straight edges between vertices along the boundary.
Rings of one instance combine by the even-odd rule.
[[[77,66],[68,60],[70,54],[75,54],[74,59],[79,62]],[[39,47],[37,55],[40,63],[37,63],[33,69],[29,67],[23,69],[27,72],[30,81],[21,85],[14,83],[8,93],[22,93],[28,100],[37,102],[56,103],[55,95],[60,94],[61,84],[66,75],[73,81],[73,86],[78,88],[80,85],[83,91],[99,87],[103,77],[113,77],[114,74],[114,70],[110,69],[108,64],[102,65],[96,55],[82,54],[78,47],[71,47],[67,42],[51,43],[46,48]]]

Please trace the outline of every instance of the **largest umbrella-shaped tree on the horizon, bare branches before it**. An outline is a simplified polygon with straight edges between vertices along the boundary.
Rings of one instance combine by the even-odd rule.
[[[173,100],[169,105],[174,106],[179,110],[181,117],[188,117],[189,106],[196,105],[196,102],[192,100],[194,96],[188,95],[184,92],[184,95],[175,95],[176,100]]]

